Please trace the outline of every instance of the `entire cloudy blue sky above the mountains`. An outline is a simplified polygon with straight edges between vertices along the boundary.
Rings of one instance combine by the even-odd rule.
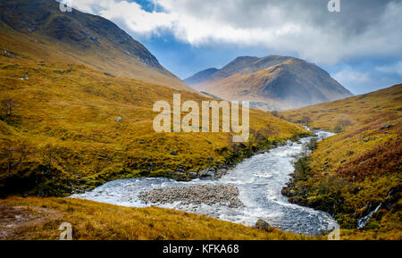
[[[402,0],[68,0],[141,42],[180,79],[238,56],[314,62],[353,94],[402,83]],[[333,11],[333,10],[332,10]]]

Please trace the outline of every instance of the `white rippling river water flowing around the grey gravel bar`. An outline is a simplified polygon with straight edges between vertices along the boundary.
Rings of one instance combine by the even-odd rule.
[[[318,137],[330,137],[329,132],[316,132]],[[225,184],[239,188],[239,199],[244,207],[230,208],[222,204],[153,204],[155,206],[178,209],[186,212],[205,214],[223,221],[253,226],[262,219],[272,227],[305,235],[322,235],[334,229],[336,221],[326,212],[289,204],[281,195],[281,188],[289,181],[295,155],[303,152],[303,144],[288,142],[264,154],[256,154],[228,171],[221,179],[195,179],[178,182],[164,178],[120,179],[106,183],[94,190],[71,197],[93,200],[107,204],[129,207],[147,207],[138,194],[154,188],[178,187],[204,184]]]

